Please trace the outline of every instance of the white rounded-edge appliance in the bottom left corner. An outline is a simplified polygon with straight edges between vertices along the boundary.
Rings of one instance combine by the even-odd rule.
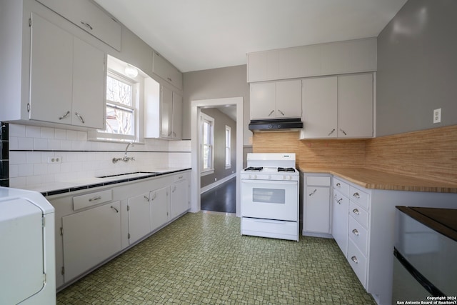
[[[0,187],[0,304],[56,304],[54,207]]]

